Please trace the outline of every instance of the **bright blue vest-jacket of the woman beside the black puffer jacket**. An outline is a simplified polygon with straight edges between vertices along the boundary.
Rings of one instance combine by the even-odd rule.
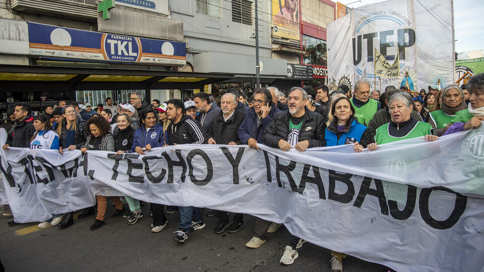
[[[349,129],[344,129],[339,132],[334,122],[329,124],[329,126],[326,128],[326,132],[324,133],[324,139],[326,140],[327,147],[342,146],[358,142],[366,148],[366,146],[371,142],[370,130],[368,130],[368,127],[365,125],[358,123],[354,117],[352,117],[351,120],[352,122]]]

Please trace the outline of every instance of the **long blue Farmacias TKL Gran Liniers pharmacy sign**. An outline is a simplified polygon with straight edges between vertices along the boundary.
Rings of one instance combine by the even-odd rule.
[[[91,60],[187,64],[185,42],[28,23],[31,55]]]

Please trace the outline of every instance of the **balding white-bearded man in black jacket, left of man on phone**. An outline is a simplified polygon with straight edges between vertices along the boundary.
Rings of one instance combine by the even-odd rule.
[[[225,93],[220,98],[220,108],[222,109],[215,115],[210,124],[209,145],[241,145],[238,139],[237,129],[240,123],[244,121],[246,112],[236,110],[237,96],[233,93]],[[226,212],[217,211],[218,224],[213,230],[214,233],[220,234],[227,230],[229,233],[236,233],[245,227],[244,214],[235,214],[233,223],[230,225]]]

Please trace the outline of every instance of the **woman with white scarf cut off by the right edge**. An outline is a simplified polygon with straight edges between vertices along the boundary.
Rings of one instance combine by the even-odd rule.
[[[452,125],[444,135],[475,129],[484,121],[484,73],[472,77],[465,85],[465,89],[471,93],[469,106],[455,114]]]

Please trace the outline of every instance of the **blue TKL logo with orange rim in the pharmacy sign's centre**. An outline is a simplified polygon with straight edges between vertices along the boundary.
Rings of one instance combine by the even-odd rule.
[[[109,60],[139,61],[140,40],[131,36],[103,34],[103,54]]]

